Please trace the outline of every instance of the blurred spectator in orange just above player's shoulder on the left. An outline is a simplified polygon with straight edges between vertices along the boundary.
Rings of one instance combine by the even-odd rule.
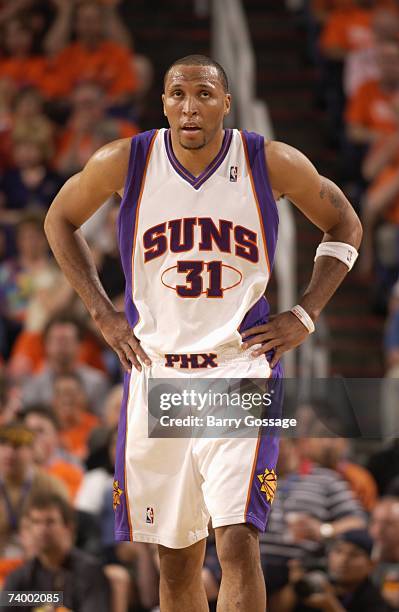
[[[60,135],[55,160],[57,170],[65,177],[81,170],[94,151],[110,140],[138,133],[134,124],[106,116],[106,98],[101,85],[82,83],[73,91],[71,99],[71,116]]]

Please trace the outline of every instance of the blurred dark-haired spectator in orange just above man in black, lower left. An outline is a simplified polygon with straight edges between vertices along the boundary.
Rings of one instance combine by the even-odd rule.
[[[33,461],[48,474],[61,480],[73,500],[83,478],[82,469],[72,455],[61,448],[59,422],[47,406],[32,406],[24,413],[24,423],[33,432]]]

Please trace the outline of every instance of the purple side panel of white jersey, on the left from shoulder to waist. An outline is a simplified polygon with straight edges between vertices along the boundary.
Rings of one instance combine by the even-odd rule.
[[[125,192],[118,217],[119,251],[126,281],[125,313],[131,327],[136,325],[139,318],[132,299],[132,252],[136,212],[148,151],[155,132],[156,130],[150,130],[132,138]]]

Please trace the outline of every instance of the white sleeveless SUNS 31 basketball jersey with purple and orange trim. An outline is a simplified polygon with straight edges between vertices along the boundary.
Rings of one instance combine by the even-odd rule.
[[[143,346],[212,351],[266,321],[277,228],[262,136],[225,130],[197,177],[170,130],[135,136],[118,231],[126,314]]]

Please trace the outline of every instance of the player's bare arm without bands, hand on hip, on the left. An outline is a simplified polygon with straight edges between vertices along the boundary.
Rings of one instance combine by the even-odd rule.
[[[117,312],[98,277],[80,226],[115,192],[123,191],[130,139],[117,140],[99,149],[79,174],[71,177],[54,199],[44,229],[54,256],[79,294],[108,344],[126,370],[141,361],[149,363],[125,315]]]

